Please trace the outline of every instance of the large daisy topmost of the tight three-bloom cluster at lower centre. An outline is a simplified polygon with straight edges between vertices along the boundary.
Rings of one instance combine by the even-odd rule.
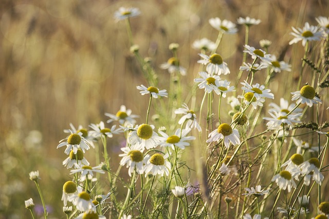
[[[159,136],[153,131],[154,125],[141,124],[134,128],[128,135],[128,140],[132,145],[141,145],[143,148],[151,149],[158,145]]]

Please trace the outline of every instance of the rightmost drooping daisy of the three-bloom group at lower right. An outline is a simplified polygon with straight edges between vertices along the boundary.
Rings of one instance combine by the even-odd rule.
[[[324,176],[320,172],[320,162],[316,157],[310,158],[299,165],[301,174],[304,175],[304,185],[308,186],[310,183],[310,177],[321,186]]]

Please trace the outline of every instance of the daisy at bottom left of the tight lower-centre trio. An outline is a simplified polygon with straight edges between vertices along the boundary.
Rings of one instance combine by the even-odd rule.
[[[121,148],[123,151],[123,154],[119,154],[119,156],[122,156],[122,159],[120,161],[120,165],[126,167],[129,167],[128,174],[129,176],[132,176],[132,173],[134,173],[135,169],[138,174],[143,174],[144,172],[144,147],[142,145],[132,145],[131,147],[124,147]]]

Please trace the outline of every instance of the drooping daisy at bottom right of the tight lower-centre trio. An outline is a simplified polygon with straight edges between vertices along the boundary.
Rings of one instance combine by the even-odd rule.
[[[168,176],[171,169],[170,162],[166,160],[168,157],[168,153],[165,156],[159,153],[153,154],[151,157],[149,156],[147,164],[144,167],[145,177],[147,177],[148,173],[161,176],[166,174]]]

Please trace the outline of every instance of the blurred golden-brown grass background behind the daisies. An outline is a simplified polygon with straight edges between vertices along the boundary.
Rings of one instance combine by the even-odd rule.
[[[276,97],[287,99],[291,84],[297,84],[303,56],[300,44],[288,46],[291,26],[302,27],[306,21],[317,25],[315,17],[329,15],[325,0],[2,0],[0,5],[0,218],[28,218],[24,200],[32,197],[40,203],[28,179],[32,170],[40,171],[46,203],[53,209],[50,218],[65,216],[60,199],[68,180],[61,164],[66,155],[56,147],[70,122],[87,127],[105,121],[104,112],[116,113],[122,104],[144,121],[149,99],[136,86],[147,84],[129,51],[124,22],[113,18],[119,7],[140,9],[141,16],[131,19],[134,40],[140,53],[152,58],[158,87],[167,90],[169,74],[158,66],[172,56],[170,43],[180,45],[180,65],[188,69],[182,85],[189,88],[199,68],[198,51],[191,44],[202,37],[212,41],[217,37],[209,18],[261,19],[250,29],[249,45],[257,48],[260,39],[269,39],[269,52],[293,65],[292,72],[278,74],[270,87]],[[238,28],[238,34],[224,35],[218,50],[228,63],[233,84],[244,44],[244,28]],[[266,75],[257,77],[255,81],[261,83]],[[184,89],[183,96],[188,91]],[[321,112],[322,121],[326,115]],[[120,139],[114,142],[120,145]],[[118,153],[114,151],[112,157]],[[114,161],[118,165],[118,158]]]

